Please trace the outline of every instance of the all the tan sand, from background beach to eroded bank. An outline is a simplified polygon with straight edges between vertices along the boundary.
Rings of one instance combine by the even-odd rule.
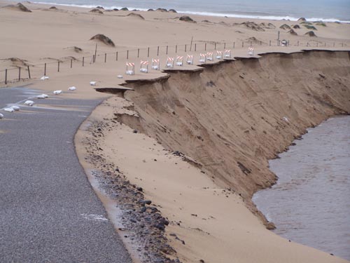
[[[0,6],[8,4],[0,2]],[[216,42],[220,50],[223,50],[223,42],[230,43],[231,46],[226,48],[230,48],[235,57],[248,57],[247,46],[251,41],[255,54],[296,52],[301,48],[295,46],[297,41],[305,49],[311,49],[305,47],[307,42],[312,48],[316,48],[317,43],[319,46],[326,43],[327,48],[333,49],[334,42],[337,50],[349,50],[350,25],[326,23],[326,27],[316,26],[318,37],[312,38],[304,36],[309,30],[303,26],[295,29],[298,36],[279,29],[283,24],[298,24],[290,21],[249,20],[258,25],[271,22],[276,26],[275,29],[255,31],[246,25],[235,24],[247,22],[246,19],[190,15],[197,23],[189,23],[179,21],[181,15],[176,13],[132,12],[142,15],[143,20],[136,15],[127,16],[131,13],[127,11],[97,14],[84,8],[57,6],[57,10],[49,9],[51,5],[29,3],[25,6],[32,12],[0,8],[0,70],[35,65],[31,67],[34,79],[26,80],[27,85],[47,92],[76,86],[76,92],[62,95],[66,97],[109,97],[88,120],[113,125],[99,138],[103,153],[95,151],[94,154],[103,156],[106,162],[116,163],[126,180],[143,187],[146,198],[158,205],[162,215],[169,219],[166,234],[179,259],[183,262],[200,262],[200,259],[243,263],[346,262],[288,242],[268,231],[251,213],[254,208],[250,201],[253,191],[274,182],[274,175],[267,169],[267,159],[286,149],[307,126],[316,125],[332,114],[350,111],[349,59],[346,55],[309,54],[305,55],[308,57],[305,65],[302,54],[292,57],[269,55],[260,62],[241,60],[209,67],[202,73],[178,72],[168,80],[130,83],[127,85],[135,91],[128,91],[124,97],[134,106],[127,109],[122,107],[126,103],[124,98],[97,93],[89,82],[97,81],[97,88],[113,88],[127,80],[166,76],[164,72],[139,72],[139,60],[147,59],[148,46],[151,47],[150,58],[156,58],[157,46],[161,47],[163,67],[167,58],[165,46],[169,46],[169,55],[175,56],[174,46],[178,44],[177,55],[186,56],[189,52],[185,52],[184,44],[188,50],[192,36],[193,43],[197,44],[197,52],[190,52],[195,54],[195,64],[199,53],[204,51],[204,42],[211,51]],[[281,39],[290,40],[294,46],[269,46],[270,40],[275,41],[278,30]],[[99,43],[100,56],[96,63],[91,63],[96,42],[89,39],[96,34],[109,36],[116,47]],[[244,48],[241,48],[242,41],[246,45]],[[260,41],[265,44],[260,46]],[[126,50],[130,50],[128,60]],[[106,63],[104,53],[108,53]],[[83,56],[86,57],[84,67]],[[71,59],[73,68],[70,68]],[[137,65],[134,76],[125,75],[127,61]],[[47,65],[50,79],[40,81],[38,78],[43,76],[45,62],[51,63]],[[289,65],[293,65],[290,68],[293,74],[287,76]],[[200,68],[186,65],[176,69]],[[230,73],[232,70],[233,74]],[[0,74],[3,86],[4,72]],[[23,68],[22,76],[25,74]],[[117,79],[118,74],[123,74],[124,79]],[[18,69],[8,72],[9,79],[16,77]],[[300,88],[294,90],[297,85]],[[327,86],[334,90],[330,91]],[[134,110],[141,116],[140,120],[127,116]],[[151,137],[133,133],[131,128],[118,121],[112,124],[110,121],[116,118],[114,114],[118,121]],[[290,123],[283,122],[283,116],[288,116]],[[80,129],[76,140],[85,168],[93,167],[84,161],[87,145],[79,143],[86,142],[84,138],[89,136],[89,129]],[[163,147],[183,151],[198,161],[200,168]],[[243,166],[237,166],[237,161]],[[245,179],[246,173],[249,179]],[[110,217],[113,216],[110,213]],[[176,234],[180,240],[170,234]]]

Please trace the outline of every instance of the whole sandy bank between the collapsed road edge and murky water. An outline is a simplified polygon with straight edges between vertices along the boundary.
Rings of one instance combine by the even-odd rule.
[[[348,52],[273,53],[133,81],[90,116],[102,129],[92,154],[145,190],[183,262],[346,262],[272,234],[246,207],[276,180],[268,159],[350,112],[349,67]]]

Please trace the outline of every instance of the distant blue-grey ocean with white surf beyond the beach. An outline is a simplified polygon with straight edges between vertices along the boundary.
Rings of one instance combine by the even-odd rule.
[[[350,22],[350,0],[43,0],[36,3],[70,6],[148,10],[173,8],[181,13],[228,16],[235,18],[265,18],[273,20],[307,18],[325,22]]]

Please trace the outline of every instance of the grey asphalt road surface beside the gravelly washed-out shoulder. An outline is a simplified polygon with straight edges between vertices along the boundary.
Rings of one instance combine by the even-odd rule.
[[[60,109],[1,110],[34,94],[0,89],[0,262],[132,262],[74,149],[99,101],[55,96],[33,100]]]

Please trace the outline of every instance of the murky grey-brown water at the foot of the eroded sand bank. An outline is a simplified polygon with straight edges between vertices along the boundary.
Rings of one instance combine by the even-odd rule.
[[[274,232],[350,260],[350,116],[309,129],[269,162],[279,177],[253,202]]]

